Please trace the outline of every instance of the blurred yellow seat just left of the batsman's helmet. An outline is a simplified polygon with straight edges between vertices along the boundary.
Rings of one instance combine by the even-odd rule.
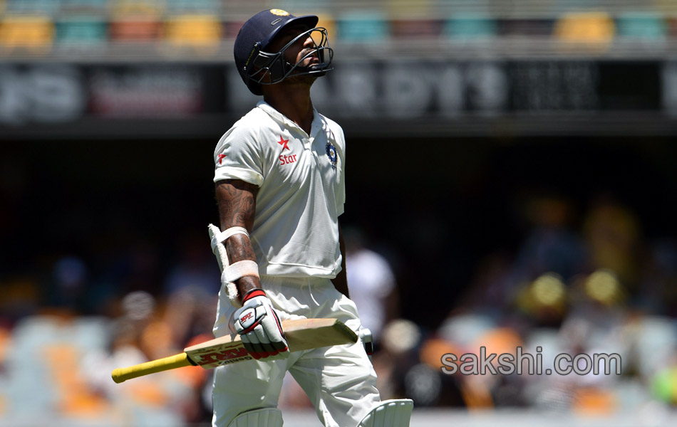
[[[221,20],[215,15],[172,16],[165,23],[165,38],[172,46],[215,46],[222,36]]]

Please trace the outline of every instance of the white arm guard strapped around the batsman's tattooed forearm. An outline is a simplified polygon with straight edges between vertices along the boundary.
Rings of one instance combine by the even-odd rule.
[[[252,260],[237,261],[237,263],[231,265],[228,261],[228,254],[226,253],[225,246],[223,246],[223,242],[236,234],[244,234],[244,236],[249,238],[249,233],[247,233],[247,229],[244,227],[230,227],[220,231],[217,226],[210,224],[209,229],[210,238],[212,239],[212,252],[216,255],[221,270],[221,284],[225,287],[228,299],[232,305],[242,307],[237,293],[237,286],[235,286],[234,282],[244,276],[255,276],[258,278],[259,265]]]

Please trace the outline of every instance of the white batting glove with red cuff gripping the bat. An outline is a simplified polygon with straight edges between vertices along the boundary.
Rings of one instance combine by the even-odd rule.
[[[279,316],[263,290],[254,290],[244,297],[242,307],[234,314],[234,328],[254,359],[289,356]]]

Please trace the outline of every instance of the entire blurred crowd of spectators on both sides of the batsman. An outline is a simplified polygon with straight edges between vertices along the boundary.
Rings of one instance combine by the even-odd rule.
[[[346,227],[348,283],[373,332],[383,398],[408,397],[418,408],[655,416],[676,406],[677,241],[648,240],[634,211],[604,196],[578,213],[564,197],[534,195],[520,213],[527,226],[517,250],[485,254],[449,305],[435,300],[434,287],[398,275],[393,260],[405,254],[394,257],[386,241]],[[40,408],[88,425],[208,421],[210,371],[188,367],[123,384],[110,379],[115,367],[212,337],[219,271],[202,237],[184,233],[168,270],[157,246],[139,241],[105,268],[68,254],[33,275],[1,275],[0,419],[30,421]],[[412,288],[428,293],[430,307],[448,310],[442,322],[429,327],[403,315],[412,312],[402,310],[403,290]],[[482,346],[487,354],[515,354],[517,347],[536,354],[541,347],[544,369],[559,353],[616,353],[621,374],[441,369],[443,355],[479,354]],[[291,377],[284,387],[281,407],[310,407]]]

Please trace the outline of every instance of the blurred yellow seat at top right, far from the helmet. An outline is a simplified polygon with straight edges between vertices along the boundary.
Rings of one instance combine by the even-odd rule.
[[[614,19],[606,12],[572,12],[554,25],[557,40],[594,46],[611,43],[615,32]]]

